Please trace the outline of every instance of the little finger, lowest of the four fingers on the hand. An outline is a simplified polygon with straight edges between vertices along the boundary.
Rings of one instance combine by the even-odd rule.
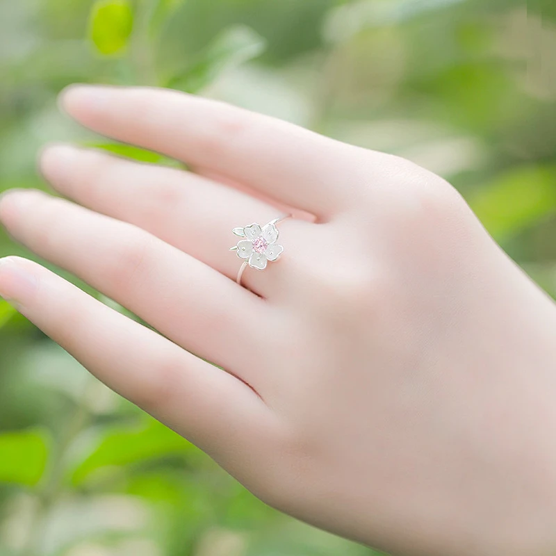
[[[236,452],[262,430],[265,405],[245,384],[42,266],[1,259],[0,295],[102,382],[204,450]]]

